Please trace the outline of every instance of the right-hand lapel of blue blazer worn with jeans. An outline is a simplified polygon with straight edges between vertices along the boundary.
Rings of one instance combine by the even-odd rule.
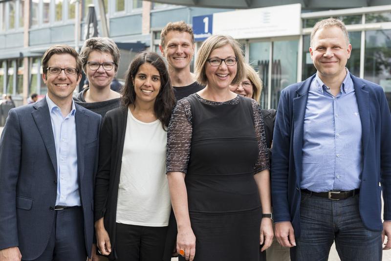
[[[360,113],[361,128],[362,128],[362,142],[363,153],[365,158],[365,152],[369,145],[369,128],[370,128],[370,113],[369,113],[369,92],[366,90],[366,85],[360,78],[350,74],[353,80],[354,91],[356,93],[358,111]]]

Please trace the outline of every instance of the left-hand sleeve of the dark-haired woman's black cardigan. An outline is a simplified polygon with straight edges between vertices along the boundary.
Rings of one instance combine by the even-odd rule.
[[[103,218],[109,192],[112,118],[106,114],[99,134],[99,164],[95,181],[94,221]]]

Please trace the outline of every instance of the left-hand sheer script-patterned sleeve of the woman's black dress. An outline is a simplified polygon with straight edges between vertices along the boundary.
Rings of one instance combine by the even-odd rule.
[[[167,173],[187,172],[192,142],[193,123],[190,103],[179,100],[167,131]]]

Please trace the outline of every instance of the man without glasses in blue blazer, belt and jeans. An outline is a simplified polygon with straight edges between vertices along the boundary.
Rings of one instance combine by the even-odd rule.
[[[310,46],[317,73],[283,89],[277,110],[275,235],[293,261],[326,261],[334,241],[341,260],[381,261],[384,235],[391,248],[390,109],[382,87],[345,67],[344,23],[318,22]]]

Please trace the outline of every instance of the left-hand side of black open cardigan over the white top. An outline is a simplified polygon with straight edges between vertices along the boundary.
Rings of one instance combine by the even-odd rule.
[[[110,260],[117,258],[115,253],[115,221],[127,117],[127,107],[120,106],[110,110],[103,119],[100,132],[94,221],[104,217],[105,229],[109,233],[111,243]]]

